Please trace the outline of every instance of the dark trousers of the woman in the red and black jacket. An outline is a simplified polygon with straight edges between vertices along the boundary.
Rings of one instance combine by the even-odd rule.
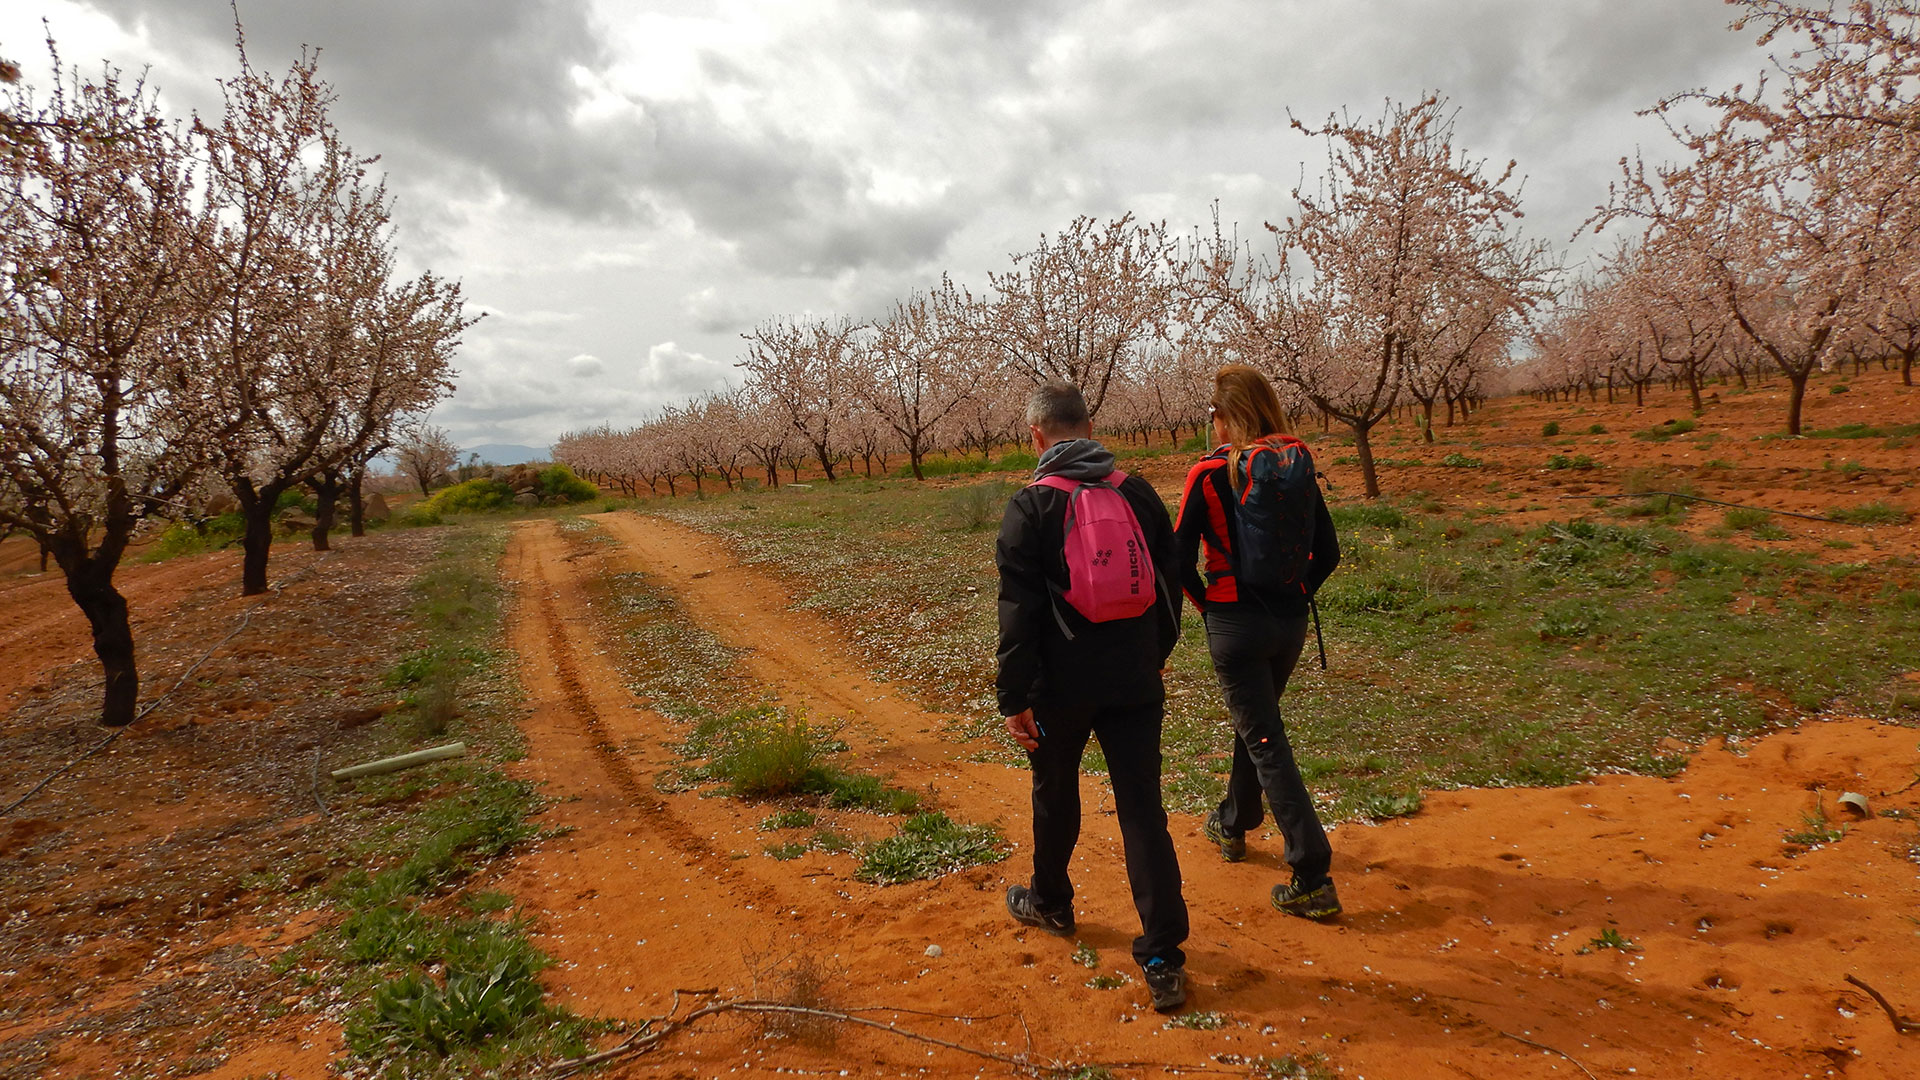
[[[1273,615],[1256,601],[1210,603],[1206,609],[1206,646],[1233,717],[1233,774],[1219,803],[1219,821],[1229,834],[1260,828],[1260,798],[1265,796],[1286,840],[1294,880],[1317,886],[1327,880],[1332,846],[1313,813],[1313,796],[1300,778],[1281,721],[1281,692],[1300,663],[1306,640],[1306,615]]]

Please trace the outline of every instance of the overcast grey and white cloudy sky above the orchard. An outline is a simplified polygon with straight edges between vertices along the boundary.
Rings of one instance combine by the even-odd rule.
[[[380,154],[411,271],[488,313],[436,413],[545,446],[737,379],[776,315],[983,286],[1079,213],[1175,231],[1288,213],[1325,146],[1288,131],[1438,90],[1526,175],[1559,246],[1661,96],[1751,81],[1720,0],[242,0],[255,65],[323,50]],[[150,67],[177,111],[234,67],[227,0],[10,0],[0,54]],[[1576,252],[1578,254],[1578,252]]]

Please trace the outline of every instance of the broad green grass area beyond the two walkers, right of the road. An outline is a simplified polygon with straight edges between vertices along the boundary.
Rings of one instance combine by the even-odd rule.
[[[1622,473],[1628,490],[1688,486],[1657,467]],[[1678,532],[1668,525],[1686,503],[1670,502],[1615,500],[1607,517],[1536,528],[1334,503],[1342,563],[1319,598],[1332,671],[1309,642],[1281,701],[1302,763],[1323,763],[1321,813],[1382,817],[1434,788],[1670,774],[1684,757],[1663,740],[1757,734],[1791,719],[1782,701],[1912,723],[1895,692],[1920,655],[1920,607],[1893,600],[1912,592],[1910,557],[1836,580],[1805,555]],[[952,528],[943,492],[849,482],[660,509],[787,573],[799,603],[835,619],[870,669],[964,717],[943,734],[966,757],[1023,765],[993,703],[993,536]],[[1169,809],[1215,803],[1229,749],[1188,605],[1167,675]]]

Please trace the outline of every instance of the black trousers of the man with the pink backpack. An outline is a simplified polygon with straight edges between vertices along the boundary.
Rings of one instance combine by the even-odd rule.
[[[1181,897],[1181,861],[1167,834],[1167,811],[1160,801],[1160,723],[1165,703],[1075,707],[1035,707],[1041,748],[1027,751],[1033,763],[1033,899],[1041,911],[1073,907],[1068,861],[1079,842],[1079,767],[1087,738],[1100,740],[1108,778],[1114,782],[1114,809],[1119,840],[1127,851],[1127,884],[1140,915],[1140,936],[1133,940],[1133,959],[1160,957],[1185,965],[1187,901]]]

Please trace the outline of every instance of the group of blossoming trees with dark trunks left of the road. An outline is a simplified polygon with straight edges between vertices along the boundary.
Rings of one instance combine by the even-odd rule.
[[[113,573],[148,521],[225,488],[244,592],[267,588],[271,515],[344,490],[451,392],[461,290],[394,269],[388,196],[328,117],[305,56],[248,63],[182,121],[154,88],[52,50],[0,61],[0,530],[65,575],[106,669],[102,721],[138,675]],[[317,534],[317,542],[324,532]]]

